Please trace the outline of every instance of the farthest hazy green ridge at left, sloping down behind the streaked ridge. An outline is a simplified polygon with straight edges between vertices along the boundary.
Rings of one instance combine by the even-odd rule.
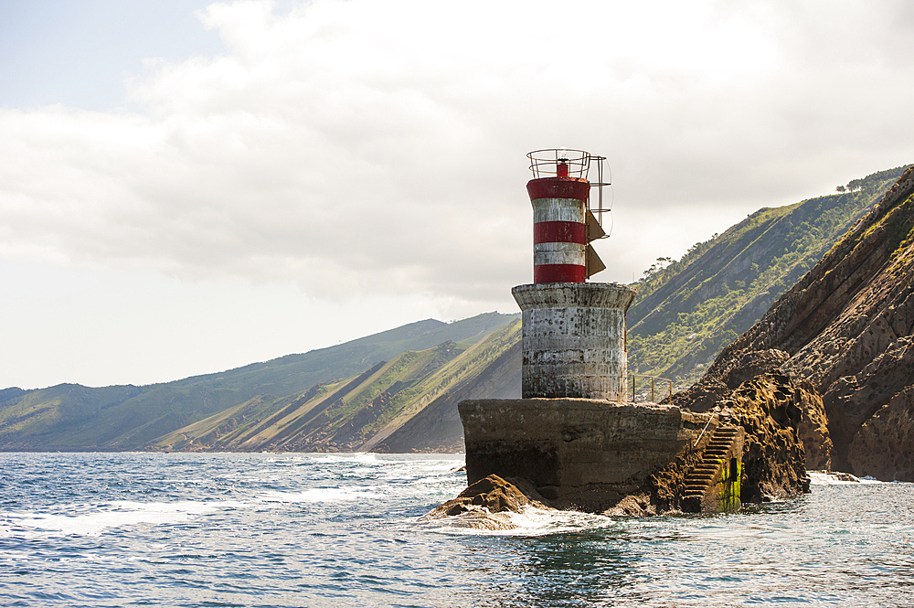
[[[517,315],[489,313],[451,324],[426,320],[303,355],[290,355],[145,387],[0,391],[0,449],[132,450],[175,429],[258,396],[301,393],[351,377],[396,357],[447,340],[472,344]]]

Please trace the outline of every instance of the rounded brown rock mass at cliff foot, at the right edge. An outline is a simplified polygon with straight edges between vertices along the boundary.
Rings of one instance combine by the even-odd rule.
[[[847,459],[857,475],[914,481],[914,387],[898,393],[856,433]]]

